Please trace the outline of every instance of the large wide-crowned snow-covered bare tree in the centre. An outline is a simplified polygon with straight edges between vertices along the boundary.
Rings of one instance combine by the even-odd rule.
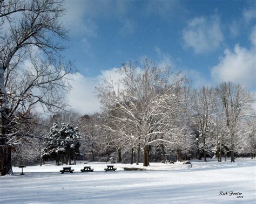
[[[171,123],[165,122],[172,117],[171,109],[179,103],[177,99],[181,93],[178,90],[184,79],[173,75],[170,67],[158,67],[149,60],[144,61],[143,69],[132,62],[123,64],[118,73],[122,80],[117,83],[106,80],[104,85],[97,87],[102,108],[111,118],[111,123],[116,125],[114,129],[111,125],[106,125],[106,128],[124,140],[135,137],[137,156],[142,146],[143,165],[148,166],[149,145],[159,141],[170,142],[163,139],[163,135],[171,135]],[[128,126],[132,127],[129,128],[132,132],[126,128]]]

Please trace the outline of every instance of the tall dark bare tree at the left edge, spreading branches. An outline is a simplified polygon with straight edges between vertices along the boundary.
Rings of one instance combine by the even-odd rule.
[[[53,39],[67,38],[58,21],[64,12],[62,0],[9,0],[1,1],[0,6],[0,172],[5,175],[12,173],[12,139],[26,135],[24,128],[17,130],[14,124],[20,126],[20,118],[28,122],[37,103],[49,111],[63,108],[57,90],[68,88],[63,79],[72,65],[52,57],[52,51],[64,48]],[[45,54],[44,60],[31,54],[37,49]],[[31,66],[24,66],[24,60]]]

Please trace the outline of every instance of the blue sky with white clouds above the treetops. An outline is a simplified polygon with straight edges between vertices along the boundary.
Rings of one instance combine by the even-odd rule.
[[[79,71],[69,100],[80,112],[99,109],[94,87],[128,60],[170,65],[194,87],[227,80],[256,90],[256,1],[66,0],[66,8],[64,55]]]

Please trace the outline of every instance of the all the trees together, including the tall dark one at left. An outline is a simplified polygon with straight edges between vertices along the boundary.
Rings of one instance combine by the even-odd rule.
[[[144,166],[159,154],[165,160],[166,151],[178,160],[190,155],[205,161],[255,154],[253,97],[244,87],[223,82],[193,90],[180,73],[149,60],[123,64],[117,82],[106,79],[96,88],[102,112],[65,112],[73,64],[59,56],[64,47],[58,40],[68,39],[59,21],[63,2],[0,0],[1,175],[12,173],[12,158],[24,152],[26,159],[57,163],[80,152],[91,160],[117,152],[117,161],[133,163],[136,156]],[[51,116],[42,118],[38,108]]]

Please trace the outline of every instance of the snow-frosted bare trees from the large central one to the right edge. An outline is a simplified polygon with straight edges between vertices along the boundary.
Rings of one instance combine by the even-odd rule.
[[[255,118],[254,100],[246,88],[223,82],[191,89],[169,67],[147,60],[142,69],[130,62],[118,72],[118,82],[109,79],[97,87],[107,118],[100,128],[119,151],[135,148],[139,160],[142,149],[144,166],[155,145],[160,145],[163,160],[164,147],[179,155],[196,153],[204,161],[214,155],[221,161],[224,154],[234,162],[235,153],[255,154],[255,130],[248,125]]]

